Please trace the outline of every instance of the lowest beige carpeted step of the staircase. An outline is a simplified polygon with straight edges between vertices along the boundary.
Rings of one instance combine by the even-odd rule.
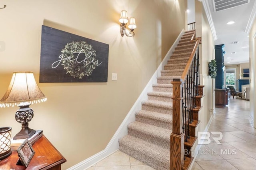
[[[156,170],[170,170],[170,150],[126,135],[119,139],[120,151],[155,168]]]

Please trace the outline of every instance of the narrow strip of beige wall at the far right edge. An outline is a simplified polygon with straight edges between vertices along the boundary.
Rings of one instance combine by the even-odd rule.
[[[249,34],[249,55],[250,55],[250,116],[252,119],[254,119],[254,128],[256,128],[256,107],[255,107],[255,101],[256,101],[256,79],[254,78],[256,74],[256,61],[255,61],[255,55],[256,55],[256,20],[254,20],[254,24],[252,25],[252,29],[250,30]]]

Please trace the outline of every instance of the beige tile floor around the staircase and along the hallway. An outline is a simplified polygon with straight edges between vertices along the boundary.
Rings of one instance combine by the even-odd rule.
[[[228,107],[216,108],[208,131],[222,132],[221,144],[202,145],[195,151],[192,170],[256,170],[256,129],[250,122],[248,101],[230,98]],[[118,150],[87,170],[154,169]]]

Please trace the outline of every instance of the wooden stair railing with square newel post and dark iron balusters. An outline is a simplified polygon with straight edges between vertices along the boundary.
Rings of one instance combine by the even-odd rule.
[[[192,40],[195,33],[192,36]],[[190,138],[190,124],[193,122],[193,108],[196,107],[196,96],[200,86],[200,64],[198,45],[201,37],[196,38],[196,44],[188,59],[180,79],[173,79],[173,111],[172,134],[170,137],[170,170],[184,168],[184,142]]]

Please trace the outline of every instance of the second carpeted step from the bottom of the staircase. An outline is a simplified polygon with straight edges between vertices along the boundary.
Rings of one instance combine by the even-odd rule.
[[[140,134],[136,137],[138,138],[143,138],[144,136],[149,136],[148,138],[148,142],[150,142],[152,140],[151,143],[155,143],[155,142],[159,142],[159,143],[164,143],[163,145],[165,145],[166,143],[168,145],[170,145],[170,136],[172,131],[165,129],[165,128],[160,128],[158,126],[154,126],[151,124],[146,124],[146,123],[142,123],[142,122],[132,122],[130,124],[128,124],[128,134],[130,131],[131,136],[136,136],[136,134]],[[139,133],[136,133],[136,132]],[[135,134],[135,133],[136,134]],[[134,135],[132,135],[134,134]],[[152,139],[150,139],[152,138]],[[159,145],[161,146],[161,145]],[[169,148],[169,146],[165,146],[166,148]]]

